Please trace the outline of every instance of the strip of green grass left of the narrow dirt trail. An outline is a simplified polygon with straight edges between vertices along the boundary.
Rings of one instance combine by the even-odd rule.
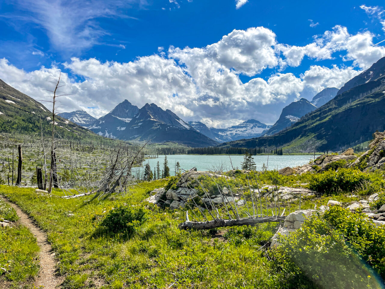
[[[3,200],[0,200],[1,218],[18,220],[15,210]],[[11,225],[0,227],[0,267],[7,270],[0,275],[0,282],[8,281],[12,288],[20,288],[23,284],[28,287],[39,272],[39,246],[27,227],[17,223]]]

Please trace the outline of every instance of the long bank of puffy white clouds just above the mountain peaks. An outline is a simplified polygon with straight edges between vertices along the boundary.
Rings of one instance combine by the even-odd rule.
[[[0,59],[0,78],[35,99],[48,96],[49,80],[63,72],[60,111],[85,109],[95,117],[128,99],[141,107],[154,102],[185,120],[226,127],[247,119],[274,123],[277,106],[311,98],[325,87],[343,84],[385,56],[368,31],[349,34],[335,26],[305,46],[278,43],[266,27],[233,30],[205,47],[159,47],[157,54],[126,63],[73,57],[50,68],[26,72]],[[338,52],[338,56],[336,55]],[[285,72],[308,57],[315,61],[341,57],[350,66],[312,65],[300,75]],[[268,77],[259,74],[272,71]],[[242,82],[240,76],[249,80]]]

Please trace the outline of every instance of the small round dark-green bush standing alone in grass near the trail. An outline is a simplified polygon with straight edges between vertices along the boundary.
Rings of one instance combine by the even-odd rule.
[[[126,232],[131,235],[147,219],[147,210],[144,207],[119,204],[107,213],[102,222],[100,222],[99,229],[114,233]]]

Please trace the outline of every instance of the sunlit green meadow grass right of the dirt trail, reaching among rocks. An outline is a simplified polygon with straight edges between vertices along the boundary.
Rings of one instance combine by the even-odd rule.
[[[314,173],[280,176],[268,171],[257,175],[260,185],[278,182],[281,186],[306,187],[303,183],[308,183]],[[238,185],[245,185],[244,174],[234,176]],[[378,172],[370,176],[371,181],[380,178]],[[164,179],[142,182],[124,196],[106,200],[91,200],[92,196],[62,199],[38,195],[32,188],[5,185],[0,186],[0,193],[10,197],[47,232],[59,260],[58,272],[65,277],[64,289],[285,288],[282,276],[260,250],[278,229],[277,223],[210,231],[179,230],[178,224],[185,220],[182,210],[145,204],[147,217],[134,232],[105,230],[98,234],[100,224],[113,208],[119,204],[142,206],[149,192],[166,183]],[[213,184],[206,180],[205,185]],[[347,204],[360,199],[351,197],[352,193],[303,197],[301,209],[315,205],[319,208],[328,200]],[[298,210],[299,202],[282,202],[285,214]],[[269,203],[269,215],[273,204]],[[248,205],[251,207],[251,202]],[[246,207],[240,213],[242,210]],[[267,213],[265,208],[263,213]]]

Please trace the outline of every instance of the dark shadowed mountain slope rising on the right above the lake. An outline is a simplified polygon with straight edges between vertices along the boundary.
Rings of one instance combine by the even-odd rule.
[[[286,151],[341,150],[385,129],[385,57],[354,77],[337,96],[273,136],[220,144],[225,147],[283,147]]]

